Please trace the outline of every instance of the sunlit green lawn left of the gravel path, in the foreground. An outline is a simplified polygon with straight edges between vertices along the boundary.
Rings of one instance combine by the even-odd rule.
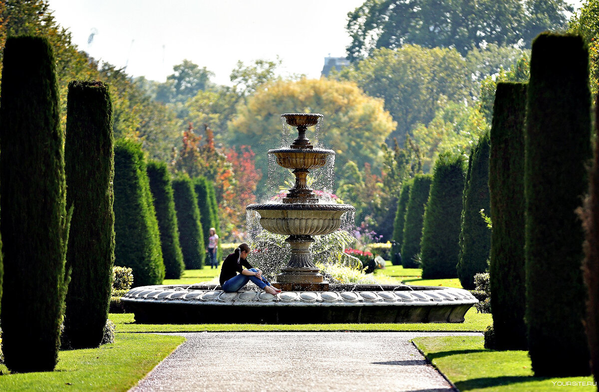
[[[113,344],[60,351],[54,372],[15,373],[0,365],[0,390],[126,391],[185,339],[117,333]]]

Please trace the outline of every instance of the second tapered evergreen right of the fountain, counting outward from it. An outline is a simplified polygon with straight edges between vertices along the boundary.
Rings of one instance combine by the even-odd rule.
[[[431,189],[431,174],[416,174],[406,208],[404,222],[404,237],[401,241],[401,260],[404,268],[418,268],[415,258],[420,253],[422,238],[422,223],[424,221],[424,206],[428,201]]]

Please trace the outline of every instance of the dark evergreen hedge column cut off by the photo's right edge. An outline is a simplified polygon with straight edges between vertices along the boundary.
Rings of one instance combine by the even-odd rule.
[[[599,106],[595,107],[595,127],[599,121]],[[596,128],[595,128],[596,129]],[[599,151],[599,139],[595,138],[595,151]],[[599,154],[591,170],[589,197],[582,210],[586,231],[584,278],[589,291],[586,306],[586,336],[591,351],[591,371],[595,382],[599,380]]]

